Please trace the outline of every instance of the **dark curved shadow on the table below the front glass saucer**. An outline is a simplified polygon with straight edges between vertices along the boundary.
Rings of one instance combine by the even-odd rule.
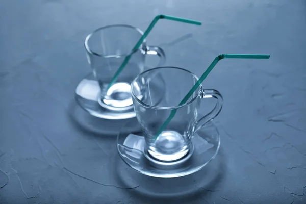
[[[116,175],[123,186],[138,186],[128,191],[141,203],[188,203],[208,196],[215,191],[226,172],[225,157],[220,148],[219,154],[203,169],[182,177],[171,179],[150,177],[127,167],[120,156],[116,157]]]

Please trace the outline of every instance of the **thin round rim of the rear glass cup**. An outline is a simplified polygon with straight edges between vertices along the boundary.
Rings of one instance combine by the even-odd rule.
[[[84,41],[84,46],[85,46],[85,49],[87,50],[87,52],[90,53],[91,55],[96,55],[96,56],[99,56],[99,57],[108,56],[108,55],[103,55],[103,54],[98,54],[98,53],[96,53],[96,52],[93,52],[93,50],[91,50],[90,47],[89,47],[89,45],[88,45],[88,41],[89,41],[89,39],[91,38],[91,36],[93,36],[95,33],[98,33],[98,32],[100,32],[101,30],[105,30],[105,29],[109,29],[109,28],[114,28],[114,27],[121,27],[121,28],[133,29],[133,30],[137,31],[138,33],[140,33],[141,35],[143,35],[143,32],[142,32],[140,29],[138,29],[138,28],[136,28],[136,27],[134,27],[134,26],[132,26],[132,25],[127,25],[127,24],[112,24],[112,25],[106,25],[106,26],[104,26],[104,27],[100,27],[100,28],[94,30],[93,32],[91,32],[90,34],[88,34],[88,35],[86,36],[85,41]],[[143,40],[142,44],[144,44],[144,43],[146,43],[146,39]],[[140,45],[140,46],[141,46],[141,45]],[[128,56],[128,55],[132,55],[132,54],[135,53],[138,49],[139,49],[139,48],[132,50],[130,53],[122,54],[122,55],[119,55],[119,56],[124,57],[124,56]]]

